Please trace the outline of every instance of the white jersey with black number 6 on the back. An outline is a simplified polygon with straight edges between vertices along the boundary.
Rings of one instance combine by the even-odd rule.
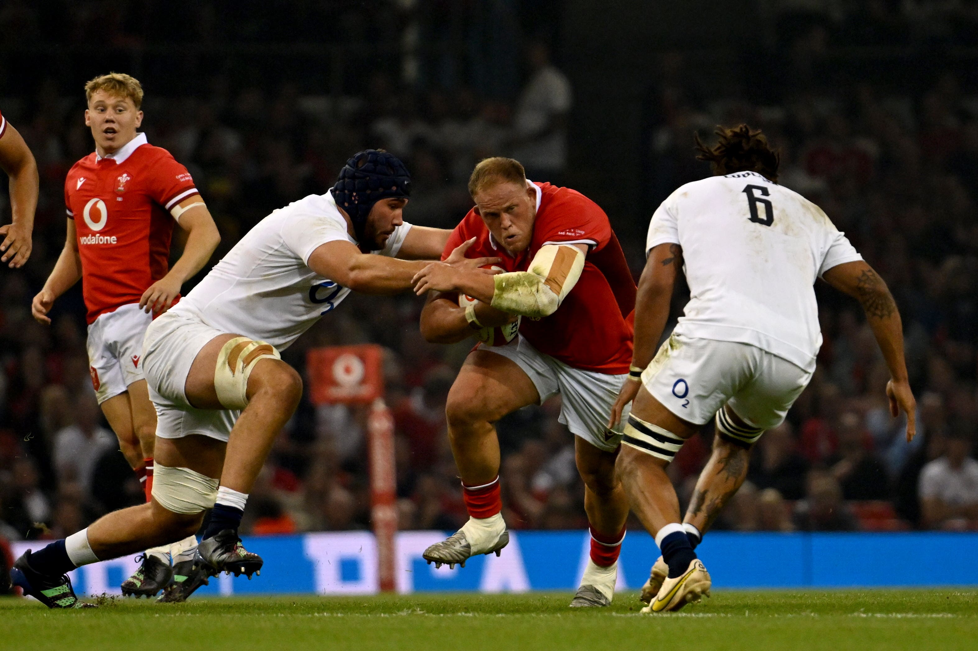
[[[689,304],[676,332],[758,346],[805,370],[822,346],[813,285],[863,258],[822,209],[755,172],[687,183],[648,225],[645,253],[683,247]]]

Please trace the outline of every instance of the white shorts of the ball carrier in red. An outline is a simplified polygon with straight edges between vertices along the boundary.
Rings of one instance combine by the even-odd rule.
[[[606,452],[618,449],[622,428],[631,407],[625,407],[621,422],[614,430],[607,427],[611,407],[628,374],[606,375],[596,371],[574,368],[533,347],[519,335],[506,346],[479,345],[516,363],[529,376],[540,393],[540,402],[560,394],[560,416],[557,419],[570,433],[580,436]]]

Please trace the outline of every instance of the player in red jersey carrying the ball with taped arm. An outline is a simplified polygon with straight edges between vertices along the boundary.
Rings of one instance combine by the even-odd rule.
[[[575,435],[592,535],[591,557],[570,605],[606,606],[628,515],[614,474],[621,432],[606,423],[629,373],[635,281],[607,216],[580,192],[530,183],[510,158],[480,162],[468,190],[475,207],[455,228],[445,255],[475,238],[467,255],[499,256],[504,272],[426,266],[415,277],[416,291],[430,293],[422,334],[448,344],[473,328],[509,324],[515,316],[521,322],[509,344],[476,346],[449,393],[448,434],[469,519],[423,555],[454,565],[506,547],[493,424],[560,393],[559,420]],[[468,297],[466,306],[459,305],[459,294]]]

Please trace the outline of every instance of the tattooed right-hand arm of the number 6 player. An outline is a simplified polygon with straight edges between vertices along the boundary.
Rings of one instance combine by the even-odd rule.
[[[904,326],[893,295],[883,279],[863,261],[833,266],[822,273],[822,279],[863,305],[867,323],[890,369],[890,382],[886,384],[890,413],[894,418],[901,410],[907,413],[907,440],[912,440],[916,433],[916,401],[904,359]]]

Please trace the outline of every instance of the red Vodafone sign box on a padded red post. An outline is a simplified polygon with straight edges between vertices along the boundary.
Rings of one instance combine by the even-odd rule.
[[[313,404],[370,405],[367,417],[371,522],[377,537],[378,588],[394,590],[397,485],[394,419],[383,403],[383,350],[374,344],[312,348],[306,356]]]

